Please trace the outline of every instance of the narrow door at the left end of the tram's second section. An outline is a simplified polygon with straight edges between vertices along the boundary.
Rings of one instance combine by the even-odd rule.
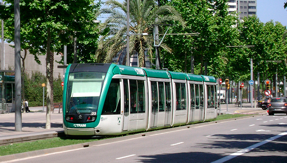
[[[156,127],[158,118],[157,82],[151,81],[150,86],[151,86],[151,127]]]

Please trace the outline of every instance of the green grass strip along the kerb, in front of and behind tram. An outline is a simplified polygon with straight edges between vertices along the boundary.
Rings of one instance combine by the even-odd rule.
[[[233,118],[244,117],[244,116],[250,116],[250,115],[241,115],[241,114],[220,115],[215,119],[215,121],[233,119]],[[30,152],[30,151],[37,151],[37,150],[48,149],[48,148],[62,147],[62,146],[68,146],[68,145],[74,145],[74,144],[81,144],[81,143],[92,142],[92,141],[97,141],[97,140],[100,140],[100,139],[92,139],[91,137],[78,137],[78,138],[76,137],[68,137],[68,138],[67,137],[55,137],[55,138],[36,140],[36,141],[31,141],[31,142],[12,143],[10,145],[0,146],[0,156],[12,155],[12,154],[18,154],[18,153],[24,153],[24,152]]]

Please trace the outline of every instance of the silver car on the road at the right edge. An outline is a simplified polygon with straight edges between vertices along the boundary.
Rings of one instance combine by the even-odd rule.
[[[286,97],[275,97],[272,98],[268,104],[269,116],[274,113],[285,113],[287,114],[287,98]]]

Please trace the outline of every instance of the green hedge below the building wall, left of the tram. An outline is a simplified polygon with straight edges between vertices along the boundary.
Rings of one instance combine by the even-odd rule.
[[[25,98],[29,102],[29,106],[42,106],[43,105],[43,87],[42,83],[46,84],[46,76],[40,72],[33,72],[31,77],[25,75],[24,89]],[[61,86],[61,78],[54,79],[54,102],[62,102],[63,91]],[[46,105],[46,87],[45,87],[45,105]]]

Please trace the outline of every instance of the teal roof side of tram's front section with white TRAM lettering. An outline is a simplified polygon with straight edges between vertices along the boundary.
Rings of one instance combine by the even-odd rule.
[[[113,67],[112,67],[113,66]],[[139,67],[111,64],[113,74],[145,76],[144,70]]]

